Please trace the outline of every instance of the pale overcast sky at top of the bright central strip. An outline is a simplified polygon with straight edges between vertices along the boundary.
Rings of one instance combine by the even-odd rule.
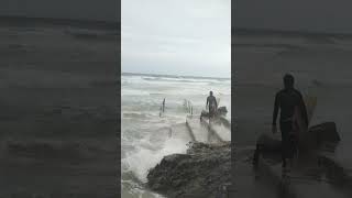
[[[231,0],[121,3],[123,73],[231,76]]]

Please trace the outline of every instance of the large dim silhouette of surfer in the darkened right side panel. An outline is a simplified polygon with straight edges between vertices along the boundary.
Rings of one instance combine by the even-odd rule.
[[[298,107],[304,119],[304,124],[308,125],[308,116],[306,105],[301,94],[294,88],[295,79],[294,76],[286,74],[284,76],[284,89],[278,91],[275,96],[274,112],[273,112],[273,133],[277,132],[276,119],[278,110],[279,114],[279,129],[282,132],[282,158],[283,167],[286,167],[286,158],[290,158],[289,151],[290,145],[290,133],[293,132],[293,117],[295,108]]]

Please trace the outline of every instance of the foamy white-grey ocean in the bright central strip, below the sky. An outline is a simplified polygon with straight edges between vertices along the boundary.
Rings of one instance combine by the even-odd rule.
[[[189,107],[200,114],[210,90],[231,119],[230,78],[122,74],[121,197],[163,197],[145,187],[147,172],[164,156],[186,152]]]

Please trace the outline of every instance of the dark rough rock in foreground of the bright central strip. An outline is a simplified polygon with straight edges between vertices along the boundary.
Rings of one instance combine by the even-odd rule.
[[[216,197],[231,183],[231,144],[190,143],[186,154],[165,156],[147,175],[167,197]]]

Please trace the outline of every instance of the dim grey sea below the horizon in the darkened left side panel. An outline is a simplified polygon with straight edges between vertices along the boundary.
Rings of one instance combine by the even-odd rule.
[[[0,25],[1,197],[117,197],[118,36],[69,22]]]

